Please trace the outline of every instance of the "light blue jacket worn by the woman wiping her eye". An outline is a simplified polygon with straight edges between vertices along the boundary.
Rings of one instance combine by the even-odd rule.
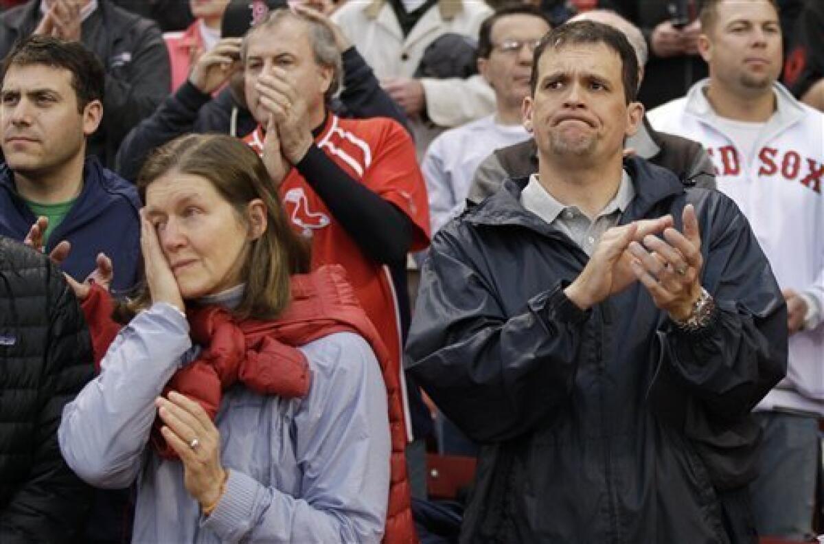
[[[238,383],[216,424],[226,493],[200,514],[183,465],[147,447],[153,404],[193,359],[189,324],[165,303],[124,327],[89,382],[63,410],[60,450],[91,485],[138,481],[133,542],[380,542],[389,495],[386,388],[366,340],[353,333],[300,347],[311,366],[302,399],[260,396]]]

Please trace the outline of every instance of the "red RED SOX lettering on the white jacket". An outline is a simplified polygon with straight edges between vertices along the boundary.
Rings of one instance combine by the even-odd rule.
[[[721,167],[716,166],[716,176],[740,176],[742,173],[741,157],[738,150],[731,145],[720,148],[707,148],[714,161],[720,159]],[[780,174],[787,181],[798,181],[801,185],[821,195],[824,164],[810,157],[801,157],[797,151],[783,154],[776,148],[764,147],[758,152],[758,176],[775,176]]]

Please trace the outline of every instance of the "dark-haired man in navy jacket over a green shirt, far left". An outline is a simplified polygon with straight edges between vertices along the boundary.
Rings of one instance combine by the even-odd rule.
[[[34,233],[49,253],[59,244],[65,252],[68,242],[63,270],[81,281],[105,253],[115,268],[111,287],[131,287],[140,251],[137,190],[86,157],[103,115],[100,61],[79,42],[31,36],[0,74],[0,234],[23,240]]]

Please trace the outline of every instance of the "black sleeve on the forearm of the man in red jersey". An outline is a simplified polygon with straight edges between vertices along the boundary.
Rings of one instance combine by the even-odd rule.
[[[353,180],[314,143],[295,167],[366,256],[385,264],[405,260],[413,235],[405,213]]]

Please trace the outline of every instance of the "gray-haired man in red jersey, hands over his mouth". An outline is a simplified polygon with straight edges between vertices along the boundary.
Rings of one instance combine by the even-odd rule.
[[[426,189],[414,143],[394,120],[330,113],[339,52],[328,28],[300,12],[269,13],[246,35],[241,59],[246,102],[260,123],[246,141],[279,184],[293,227],[311,241],[312,266],[337,263],[347,270],[403,384],[406,255],[428,246]]]

